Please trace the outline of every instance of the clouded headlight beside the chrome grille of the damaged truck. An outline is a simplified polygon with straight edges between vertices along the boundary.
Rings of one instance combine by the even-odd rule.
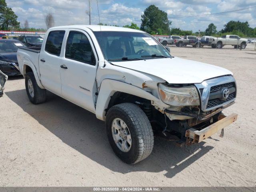
[[[158,85],[161,100],[171,106],[196,106],[200,105],[198,92],[195,86],[168,87],[164,84]]]

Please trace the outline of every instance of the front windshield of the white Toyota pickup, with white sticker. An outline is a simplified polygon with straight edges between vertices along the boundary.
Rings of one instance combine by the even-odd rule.
[[[94,32],[106,60],[121,58],[170,58],[170,53],[149,34],[140,32]]]

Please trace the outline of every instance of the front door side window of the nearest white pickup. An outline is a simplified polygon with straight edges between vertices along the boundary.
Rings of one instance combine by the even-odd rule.
[[[91,44],[85,34],[71,31],[66,44],[66,58],[95,65]]]

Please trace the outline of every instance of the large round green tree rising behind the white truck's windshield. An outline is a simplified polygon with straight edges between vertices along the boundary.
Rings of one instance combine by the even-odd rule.
[[[144,14],[141,16],[141,21],[140,29],[150,34],[159,31],[159,29],[162,30],[162,34],[170,33],[172,22],[168,20],[167,13],[154,5],[150,5],[145,9]]]

